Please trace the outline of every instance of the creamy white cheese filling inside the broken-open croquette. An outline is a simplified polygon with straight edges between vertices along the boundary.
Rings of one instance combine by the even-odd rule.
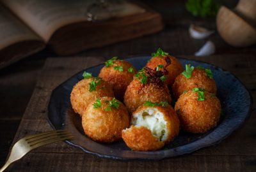
[[[138,127],[147,127],[159,141],[165,141],[167,139],[168,130],[166,121],[164,120],[163,113],[158,111],[157,108],[148,107],[146,110],[135,113],[132,117],[131,124]]]

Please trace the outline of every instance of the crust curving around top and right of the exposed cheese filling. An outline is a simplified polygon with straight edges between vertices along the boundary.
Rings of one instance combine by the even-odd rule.
[[[140,111],[147,110],[148,106],[141,105],[136,111],[132,113],[132,117],[134,114],[139,113]],[[169,143],[179,134],[180,130],[180,121],[172,106],[168,105],[166,107],[156,106],[154,107],[157,111],[160,111],[164,115],[164,120],[167,123],[168,136],[167,139],[164,140],[164,143]]]

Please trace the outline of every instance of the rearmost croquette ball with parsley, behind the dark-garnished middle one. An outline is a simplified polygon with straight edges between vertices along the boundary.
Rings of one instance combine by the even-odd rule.
[[[168,71],[168,74],[166,75],[167,78],[164,82],[167,83],[170,87],[172,87],[175,78],[180,73],[182,73],[182,71],[184,71],[182,65],[175,57],[163,52],[161,48],[159,48],[157,52],[152,55],[153,57],[150,59],[150,61],[147,62],[146,66],[151,69],[157,68],[160,71],[166,69]]]

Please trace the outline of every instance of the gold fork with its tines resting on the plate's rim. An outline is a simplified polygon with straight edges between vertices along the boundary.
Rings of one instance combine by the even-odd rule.
[[[31,136],[26,136],[13,145],[11,154],[8,157],[8,160],[4,164],[3,168],[0,169],[0,172],[4,171],[12,162],[19,160],[24,155],[28,154],[29,151],[54,143],[61,140],[71,139],[72,135],[65,130],[49,131],[45,133],[33,134]]]

